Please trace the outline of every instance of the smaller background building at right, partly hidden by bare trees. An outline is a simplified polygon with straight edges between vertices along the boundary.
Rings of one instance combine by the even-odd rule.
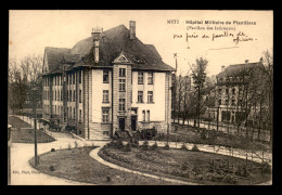
[[[264,79],[255,80],[262,66],[262,61],[256,63],[245,61],[243,64],[222,66],[221,73],[216,76],[215,106],[208,108],[210,118],[220,122],[245,123],[246,112],[249,112],[249,120],[255,120],[252,118],[255,110],[251,105],[252,95],[255,94],[252,90],[255,89],[254,82],[256,86],[259,86],[258,82],[264,82]],[[256,89],[258,90],[257,87]]]

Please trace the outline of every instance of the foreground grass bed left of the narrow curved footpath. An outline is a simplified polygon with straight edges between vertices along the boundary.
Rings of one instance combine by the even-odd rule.
[[[120,171],[100,164],[89,156],[93,146],[60,150],[40,155],[38,169],[47,174],[98,185],[171,185],[163,180]],[[29,160],[34,166],[34,158]],[[53,166],[53,171],[50,167]],[[107,182],[107,177],[111,181]]]

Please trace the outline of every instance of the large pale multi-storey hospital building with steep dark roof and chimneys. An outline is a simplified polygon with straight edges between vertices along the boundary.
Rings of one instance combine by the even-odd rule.
[[[72,49],[46,48],[43,119],[89,140],[108,139],[116,130],[166,131],[175,69],[137,38],[133,21],[129,29],[95,28],[91,35]]]

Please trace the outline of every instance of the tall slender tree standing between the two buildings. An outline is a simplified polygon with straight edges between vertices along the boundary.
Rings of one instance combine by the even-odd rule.
[[[196,108],[196,115],[197,115],[197,126],[200,128],[200,117],[201,117],[201,101],[202,101],[202,91],[204,89],[204,83],[206,80],[206,67],[207,67],[208,61],[198,57],[196,58],[196,64],[191,65],[192,70],[192,78],[194,88],[197,92],[197,108]]]

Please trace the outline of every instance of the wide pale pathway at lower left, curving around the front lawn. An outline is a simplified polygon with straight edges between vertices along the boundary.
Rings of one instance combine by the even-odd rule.
[[[74,147],[75,142],[78,143],[78,146],[85,146],[86,144],[94,144],[95,146],[103,145],[103,142],[84,141],[63,132],[48,131],[48,134],[52,134],[56,141],[50,143],[38,143],[38,155],[50,152],[51,148],[67,148],[69,144]],[[28,162],[34,155],[34,144],[11,144],[11,185],[90,185],[89,183],[70,181],[39,172]]]

